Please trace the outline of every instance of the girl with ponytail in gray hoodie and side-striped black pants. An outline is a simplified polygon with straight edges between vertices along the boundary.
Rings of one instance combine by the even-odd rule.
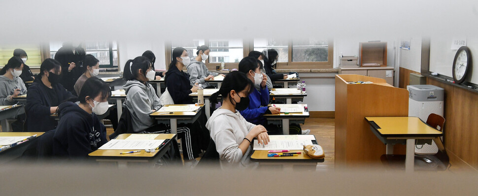
[[[126,91],[124,104],[131,113],[133,131],[138,133],[164,133],[171,131],[167,130],[165,125],[157,124],[149,116],[162,107],[156,91],[148,83],[149,80],[154,80],[155,77],[155,71],[152,69],[150,61],[145,57],[128,60],[123,73],[127,81],[123,86]],[[195,158],[199,157],[200,150],[196,147],[196,141],[192,139],[189,128],[180,127],[177,130],[177,134],[178,137],[184,138],[181,139],[184,160],[195,161]]]

